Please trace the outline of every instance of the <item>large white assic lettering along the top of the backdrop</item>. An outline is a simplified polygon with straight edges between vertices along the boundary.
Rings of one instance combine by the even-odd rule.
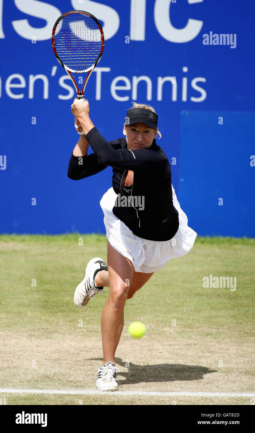
[[[63,12],[71,10],[72,8],[74,10],[88,10],[96,16],[97,19],[101,20],[103,22],[105,40],[113,38],[118,32],[119,26],[122,24],[117,10],[98,1],[70,0],[70,9],[67,9],[68,2],[65,2],[64,11],[59,10],[50,3],[50,1],[46,3],[44,1],[32,2],[31,0],[16,0],[16,8],[25,14],[24,18],[14,19],[10,23],[16,33],[22,38],[29,40],[31,40],[32,36],[36,36],[38,41],[50,39],[56,19],[58,19]],[[54,3],[54,1],[52,1],[52,3]],[[172,10],[174,12],[175,8],[172,0],[155,0],[154,4],[152,3],[151,5],[146,4],[146,0],[139,0],[139,2],[137,0],[127,0],[125,4],[126,10],[129,9],[128,3],[130,3],[130,16],[125,14],[125,25],[126,21],[129,19],[129,37],[130,40],[133,41],[145,41],[148,32],[151,33],[152,29],[146,28],[146,16],[148,16],[148,14],[154,16],[155,28],[162,38],[171,42],[184,43],[192,41],[200,33],[203,26],[203,21],[189,18],[182,29],[175,28],[171,22],[171,13]],[[187,3],[203,3],[203,0],[187,0]],[[1,10],[3,11],[3,0],[0,0],[0,12]],[[192,13],[191,10],[190,13]],[[26,15],[41,18],[46,21],[46,25],[39,28],[33,27],[29,23],[29,19]],[[194,15],[194,11],[192,15]],[[6,18],[1,13],[0,17],[2,17],[0,21],[0,38],[4,38],[3,19],[6,21]]]

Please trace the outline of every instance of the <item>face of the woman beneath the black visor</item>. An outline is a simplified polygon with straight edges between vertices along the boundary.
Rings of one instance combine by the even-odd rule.
[[[134,123],[126,126],[124,123],[123,134],[126,136],[128,149],[148,149],[151,147],[153,139],[156,138],[158,128],[152,129],[145,123]]]

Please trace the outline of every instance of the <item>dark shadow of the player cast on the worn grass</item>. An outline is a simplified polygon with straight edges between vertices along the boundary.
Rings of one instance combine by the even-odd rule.
[[[102,358],[90,358],[90,360],[102,361]],[[185,364],[156,364],[156,365],[137,365],[120,358],[115,358],[116,367],[124,367],[117,375],[119,385],[128,385],[141,382],[173,382],[173,381],[192,381],[203,379],[203,375],[215,373],[217,370],[210,370],[200,365]],[[125,379],[118,376],[126,376]]]

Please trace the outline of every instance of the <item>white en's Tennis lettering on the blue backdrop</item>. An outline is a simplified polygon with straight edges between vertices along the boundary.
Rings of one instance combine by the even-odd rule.
[[[58,71],[62,72],[62,68],[59,67]],[[181,100],[186,102],[189,99],[192,102],[202,102],[207,97],[206,90],[198,85],[200,82],[206,83],[205,77],[194,77],[192,79],[189,78],[188,80],[187,77],[180,76],[180,78],[178,78],[171,75],[154,78],[150,78],[148,75],[142,75],[140,77],[126,77],[125,75],[119,75],[118,77],[113,78],[109,84],[109,78],[106,74],[110,71],[111,68],[97,66],[92,73],[92,76],[95,77],[94,87],[95,99],[97,101],[101,100],[102,87],[107,98],[111,96],[114,100],[121,102],[128,100],[136,101],[138,99],[139,88],[141,86],[141,88],[144,89],[144,83],[146,85],[145,99],[147,101],[152,100],[153,92],[155,94],[153,99],[158,101],[164,99],[165,101],[172,100],[174,102]],[[182,71],[187,72],[187,66],[184,66]],[[45,74],[29,74],[28,77],[19,73],[11,74],[5,79],[5,81],[2,77],[2,89],[5,90],[6,95],[12,99],[23,99],[26,97],[28,97],[28,99],[34,99],[34,97],[37,99],[48,99],[50,89],[55,92],[57,89],[57,92],[61,92],[57,94],[57,97],[60,100],[73,99],[75,92],[71,83],[71,78],[66,74],[57,78],[56,72],[57,66],[53,66],[50,77]],[[68,84],[69,82],[70,85]],[[79,84],[82,84],[81,80],[79,80]],[[57,85],[59,87],[57,87]]]

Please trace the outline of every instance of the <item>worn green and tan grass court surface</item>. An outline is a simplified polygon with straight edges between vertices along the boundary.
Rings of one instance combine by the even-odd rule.
[[[102,359],[100,315],[107,294],[97,295],[82,310],[73,304],[74,290],[95,256],[107,262],[106,236],[0,235],[2,388],[95,389]],[[156,272],[126,303],[116,352],[119,390],[252,392],[254,269],[255,239],[197,237],[186,256]],[[203,288],[203,277],[210,274],[236,277],[236,291]],[[147,329],[138,340],[127,332],[136,320]],[[8,404],[48,404],[49,398],[51,404],[78,404],[68,395],[7,397]],[[140,404],[171,400],[250,404],[243,397],[169,397],[164,403],[161,397],[139,397]],[[138,400],[129,397],[123,403],[121,398],[94,395],[86,396],[87,401]]]

